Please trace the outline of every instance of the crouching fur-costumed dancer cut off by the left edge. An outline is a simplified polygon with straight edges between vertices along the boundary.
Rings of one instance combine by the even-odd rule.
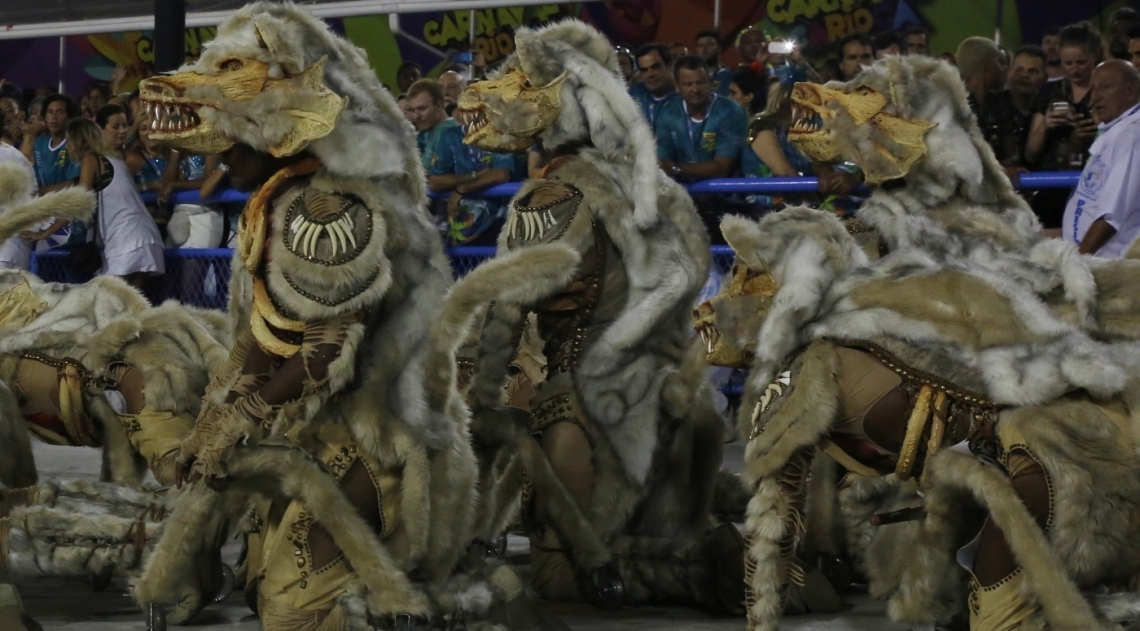
[[[0,166],[0,203],[10,206],[0,236],[50,218],[89,219],[89,192],[33,200],[21,175]],[[106,481],[137,485],[149,468],[173,484],[196,393],[226,358],[225,323],[221,313],[177,303],[152,308],[114,277],[62,285],[0,273],[0,483],[35,483],[32,433],[50,444],[101,446]]]

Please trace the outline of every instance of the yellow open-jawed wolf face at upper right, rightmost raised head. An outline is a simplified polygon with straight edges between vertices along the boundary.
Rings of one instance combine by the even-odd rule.
[[[926,157],[926,134],[937,126],[890,114],[890,99],[868,85],[797,83],[791,99],[788,139],[813,161],[857,164],[871,186],[905,178]]]

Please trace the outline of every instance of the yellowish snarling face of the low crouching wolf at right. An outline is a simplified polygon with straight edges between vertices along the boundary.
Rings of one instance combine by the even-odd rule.
[[[693,328],[705,342],[709,363],[748,368],[760,326],[780,286],[766,269],[738,256],[728,284],[693,310]]]

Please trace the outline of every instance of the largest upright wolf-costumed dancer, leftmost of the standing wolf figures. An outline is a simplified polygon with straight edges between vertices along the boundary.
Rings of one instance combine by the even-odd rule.
[[[450,582],[477,476],[455,346],[487,301],[536,300],[577,255],[536,251],[448,294],[412,128],[364,52],[292,5],[237,11],[141,97],[154,138],[221,153],[255,192],[234,347],[181,445],[192,486],[136,597],[154,620],[193,615],[201,526],[252,507],[247,593],[267,631],[478,614],[486,584]],[[518,281],[518,265],[536,276]]]

